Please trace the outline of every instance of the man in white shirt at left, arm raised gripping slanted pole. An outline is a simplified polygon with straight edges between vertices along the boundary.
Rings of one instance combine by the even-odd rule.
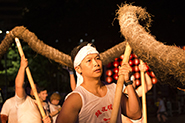
[[[15,79],[15,97],[17,105],[18,123],[51,123],[51,119],[46,116],[41,117],[37,104],[34,99],[26,95],[24,85],[25,70],[28,66],[27,59],[21,57],[20,68]]]

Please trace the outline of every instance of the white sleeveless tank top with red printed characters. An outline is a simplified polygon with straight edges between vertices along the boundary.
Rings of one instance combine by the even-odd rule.
[[[104,97],[98,97],[79,86],[71,93],[78,93],[82,99],[82,107],[79,113],[79,123],[108,123],[110,121],[116,84],[108,84]],[[70,94],[71,94],[70,93]],[[119,109],[117,123],[121,121],[121,108]]]

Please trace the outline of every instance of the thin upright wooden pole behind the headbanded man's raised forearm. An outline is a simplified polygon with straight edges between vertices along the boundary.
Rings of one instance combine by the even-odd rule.
[[[142,60],[140,60],[140,64],[144,64]],[[147,113],[146,113],[146,84],[145,84],[145,75],[144,71],[140,71],[141,74],[141,85],[142,85],[142,107],[143,107],[143,121],[147,123]]]

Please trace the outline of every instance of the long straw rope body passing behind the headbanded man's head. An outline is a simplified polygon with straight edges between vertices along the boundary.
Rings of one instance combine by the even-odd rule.
[[[3,56],[3,54],[6,53],[8,48],[11,47],[15,37],[22,39],[24,42],[27,42],[29,47],[32,48],[35,52],[51,60],[54,60],[61,65],[73,68],[71,57],[69,55],[60,52],[59,50],[49,45],[46,45],[43,43],[43,41],[39,40],[33,32],[30,32],[24,26],[17,26],[13,28],[10,33],[5,36],[0,44],[0,58]],[[100,53],[103,64],[106,65],[114,61],[115,58],[122,55],[125,50],[125,46],[126,41],[121,42],[120,44],[115,45],[107,51]]]

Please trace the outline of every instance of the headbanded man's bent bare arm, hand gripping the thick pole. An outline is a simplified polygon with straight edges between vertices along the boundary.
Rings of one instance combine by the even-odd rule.
[[[131,67],[129,64],[124,64],[119,68],[119,75],[124,75],[125,83],[129,83],[129,73],[131,71]],[[134,90],[132,84],[128,84],[126,86],[128,98],[123,94],[121,98],[121,108],[122,113],[129,118],[136,120],[141,118],[141,106],[139,98]]]

